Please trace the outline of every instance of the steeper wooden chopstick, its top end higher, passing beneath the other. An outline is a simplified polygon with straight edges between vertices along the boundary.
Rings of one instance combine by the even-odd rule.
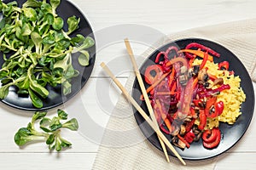
[[[152,105],[150,104],[150,101],[148,99],[148,94],[147,94],[145,85],[143,83],[143,78],[142,78],[142,76],[140,74],[140,71],[138,70],[137,62],[136,62],[136,60],[134,58],[134,54],[132,52],[131,44],[130,44],[128,38],[125,38],[125,46],[126,46],[128,54],[129,54],[129,56],[131,58],[131,63],[133,65],[133,69],[134,69],[135,75],[137,77],[137,81],[139,82],[140,88],[141,88],[141,90],[143,92],[143,96],[144,96],[144,99],[146,101],[146,105],[148,107],[148,111],[149,111],[150,117],[151,117],[152,121],[154,122],[154,125],[158,126],[158,123],[157,123],[156,118],[154,116],[154,111],[153,111]],[[168,153],[167,153],[167,150],[166,150],[166,145],[164,144],[162,139],[160,139],[159,136],[158,136],[158,139],[160,141],[162,149],[164,150],[164,153],[165,153],[165,156],[166,156],[166,161],[170,162],[170,159],[169,159],[169,156],[168,156]]]

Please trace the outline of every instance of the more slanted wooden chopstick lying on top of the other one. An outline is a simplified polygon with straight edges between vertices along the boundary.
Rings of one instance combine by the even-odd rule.
[[[105,65],[105,63],[102,62],[101,64],[102,68],[109,77],[112,78],[113,82],[119,87],[119,89],[122,91],[122,93],[125,95],[125,98],[128,99],[131,102],[131,105],[133,105],[137,111],[143,116],[143,119],[145,119],[146,122],[148,122],[148,125],[154,129],[154,132],[157,133],[157,135],[160,137],[160,139],[163,140],[163,142],[166,144],[166,146],[172,150],[172,153],[177,156],[177,159],[183,163],[183,165],[186,165],[186,162],[183,161],[183,158],[177,153],[177,150],[174,149],[172,144],[169,142],[168,139],[166,139],[166,136],[161,133],[160,128],[152,122],[150,117],[143,111],[140,105],[137,104],[136,100],[131,97],[131,95],[128,93],[128,91],[123,87],[123,85],[119,82],[119,80],[114,77],[113,73],[108,69],[108,66]]]

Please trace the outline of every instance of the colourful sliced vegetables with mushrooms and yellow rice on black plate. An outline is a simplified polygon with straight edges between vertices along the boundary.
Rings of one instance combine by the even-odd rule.
[[[221,59],[211,48],[191,42],[184,49],[160,51],[155,64],[146,67],[143,76],[154,116],[179,148],[200,139],[207,149],[218,147],[219,122],[232,125],[241,115],[246,99],[241,79],[228,61],[215,63],[216,57]]]

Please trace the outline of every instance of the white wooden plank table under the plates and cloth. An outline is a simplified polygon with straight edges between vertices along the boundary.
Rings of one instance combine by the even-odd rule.
[[[256,17],[256,6],[253,0],[71,0],[71,2],[90,21],[96,36],[97,33],[108,30],[109,26],[125,24],[147,26],[167,35],[198,26]],[[113,35],[104,36],[104,38],[111,39]],[[117,65],[117,68],[131,66],[127,65],[130,63],[129,59],[123,57],[126,52],[122,38],[115,42],[107,41],[108,43],[104,47],[101,46],[102,48],[97,49],[96,65],[90,80],[80,94],[64,105],[64,109],[68,111],[70,117],[76,116],[79,120],[83,119],[83,111],[79,111],[79,107],[75,106],[84,105],[85,111],[94,122],[101,125],[102,128],[106,126],[109,114],[118,100],[119,92],[116,88],[109,86],[109,80],[101,73],[99,65],[104,61],[111,65]],[[133,43],[132,47],[136,55],[142,54],[148,48],[147,44],[140,42]],[[125,83],[129,71],[120,72],[117,69],[115,73],[118,74],[119,80]],[[109,94],[107,99],[111,105],[102,104],[101,97],[96,93],[100,87],[107,87]],[[253,87],[256,88],[255,83],[253,83]],[[55,113],[55,110],[49,112]],[[73,147],[63,150],[61,153],[49,153],[48,147],[43,143],[30,144],[23,149],[17,147],[14,142],[14,134],[19,127],[26,126],[27,122],[31,120],[31,116],[32,113],[14,110],[0,104],[0,169],[91,169],[99,144],[96,140],[85,138],[84,129],[80,129],[79,132],[63,131],[64,137],[72,141]],[[216,169],[256,169],[254,161],[256,157],[256,125],[254,122],[255,116],[241,141],[218,157]],[[94,129],[86,130],[94,131]]]

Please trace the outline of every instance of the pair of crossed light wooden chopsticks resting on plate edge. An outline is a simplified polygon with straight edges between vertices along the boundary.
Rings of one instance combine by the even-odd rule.
[[[174,149],[174,147],[172,146],[170,141],[168,139],[166,139],[166,136],[163,133],[161,133],[160,128],[158,127],[158,124],[157,124],[155,116],[154,116],[154,111],[153,111],[152,106],[150,105],[150,101],[148,99],[148,94],[146,92],[146,88],[145,88],[145,86],[143,84],[143,79],[142,79],[141,74],[140,74],[140,72],[138,70],[136,60],[135,60],[134,55],[133,55],[132,50],[131,50],[130,42],[129,42],[129,40],[127,38],[125,39],[125,46],[126,46],[128,54],[130,55],[132,65],[133,65],[135,74],[137,76],[137,80],[139,82],[139,85],[140,85],[140,87],[142,89],[143,96],[144,96],[144,99],[146,101],[146,104],[147,104],[147,107],[148,107],[148,111],[149,111],[149,114],[150,114],[151,118],[145,113],[145,111],[143,111],[141,106],[137,104],[136,100],[131,97],[131,95],[123,87],[123,85],[117,80],[117,78],[114,77],[113,73],[109,70],[108,66],[105,65],[105,63],[102,62],[101,66],[102,66],[103,70],[106,71],[108,76],[112,78],[113,82],[115,82],[115,84],[119,87],[119,89],[125,95],[125,98],[128,99],[131,102],[131,105],[133,105],[137,109],[137,111],[141,114],[141,116],[143,116],[145,121],[148,122],[149,126],[154,129],[154,132],[157,134],[157,136],[158,136],[158,138],[160,140],[161,147],[164,150],[164,153],[165,153],[165,156],[166,156],[166,160],[168,162],[170,162],[169,156],[168,156],[167,151],[166,151],[166,146],[167,146],[170,150],[172,150],[172,153],[175,156],[177,156],[178,160],[181,161],[183,163],[183,165],[186,165],[185,161],[183,161],[183,158],[177,153],[177,150]]]

